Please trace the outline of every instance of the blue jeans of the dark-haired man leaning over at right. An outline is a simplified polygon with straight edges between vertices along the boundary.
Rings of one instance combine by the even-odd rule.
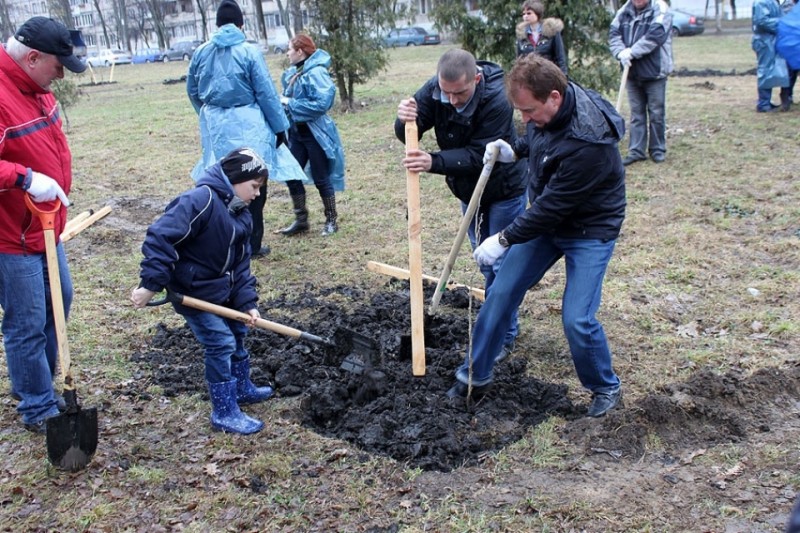
[[[513,245],[506,252],[492,292],[475,322],[472,384],[491,383],[494,360],[502,347],[503,333],[508,329],[513,310],[522,303],[527,290],[564,257],[567,281],[561,302],[561,320],[578,378],[593,393],[619,389],[603,326],[595,318],[615,242],[542,236]],[[468,383],[469,353],[456,371],[456,378]]]

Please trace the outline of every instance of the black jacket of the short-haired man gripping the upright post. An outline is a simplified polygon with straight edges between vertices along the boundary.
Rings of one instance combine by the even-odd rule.
[[[478,61],[481,80],[466,109],[459,113],[442,102],[439,78],[428,80],[414,95],[417,102],[419,136],[433,129],[441,151],[432,152],[430,172],[444,174],[450,191],[462,202],[469,203],[472,191],[483,169],[486,144],[495,139],[513,143],[514,110],[506,98],[503,69],[494,63]],[[405,142],[405,123],[395,120],[397,138]],[[525,165],[497,163],[481,196],[483,205],[516,198],[525,192]]]

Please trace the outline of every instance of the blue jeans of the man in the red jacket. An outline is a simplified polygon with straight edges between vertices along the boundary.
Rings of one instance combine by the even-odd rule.
[[[69,316],[72,279],[63,245],[56,252],[64,314]],[[17,411],[25,424],[35,424],[58,414],[53,391],[58,339],[45,254],[0,254],[0,307],[11,389],[22,398]]]

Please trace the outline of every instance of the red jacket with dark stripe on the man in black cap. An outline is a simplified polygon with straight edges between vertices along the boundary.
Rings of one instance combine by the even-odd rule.
[[[50,176],[69,194],[72,156],[61,130],[53,93],[40,87],[0,47],[0,253],[44,252],[39,219],[25,205],[20,187],[28,170]],[[40,204],[53,208],[52,203]],[[56,214],[56,240],[64,230],[67,209]]]

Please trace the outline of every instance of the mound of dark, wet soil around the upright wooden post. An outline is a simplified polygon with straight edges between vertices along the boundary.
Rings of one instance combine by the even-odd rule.
[[[498,365],[494,388],[479,401],[446,397],[467,348],[466,292],[447,293],[440,312],[426,317],[426,374],[412,376],[406,353],[411,332],[408,283],[393,281],[387,287],[371,296],[352,287],[316,293],[308,287],[301,294],[262,302],[265,318],[328,337],[334,346],[254,330],[246,342],[253,381],[270,383],[279,397],[302,394],[303,424],[315,431],[425,470],[474,464],[482,454],[519,440],[550,414],[580,414],[565,386],[527,376],[523,357],[512,356]],[[299,323],[293,314],[309,318]],[[352,332],[374,344],[371,368],[361,373],[341,368],[355,350]],[[206,396],[203,352],[186,327],[160,324],[149,346],[133,360],[167,396]]]

